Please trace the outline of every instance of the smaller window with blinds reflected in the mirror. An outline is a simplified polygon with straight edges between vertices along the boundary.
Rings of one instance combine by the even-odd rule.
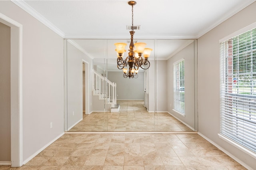
[[[184,59],[174,63],[173,66],[173,77],[174,77],[174,111],[185,115],[185,69],[184,69]]]

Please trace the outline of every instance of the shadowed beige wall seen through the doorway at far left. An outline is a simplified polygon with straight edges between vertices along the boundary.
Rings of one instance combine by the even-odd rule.
[[[0,162],[11,161],[11,29],[0,23]]]

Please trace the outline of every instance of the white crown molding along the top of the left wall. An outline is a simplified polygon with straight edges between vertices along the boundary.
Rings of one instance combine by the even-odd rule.
[[[54,31],[56,34],[58,34],[62,38],[65,37],[64,32],[62,32],[60,29],[54,26],[54,24],[52,24],[50,21],[44,18],[41,14],[39,14],[36,10],[34,10],[31,6],[29,6],[23,0],[11,0],[11,1],[17,6],[19,6],[20,8],[22,8],[24,11],[28,12],[28,14],[36,18],[38,21],[42,22],[42,24],[50,28],[52,31]]]

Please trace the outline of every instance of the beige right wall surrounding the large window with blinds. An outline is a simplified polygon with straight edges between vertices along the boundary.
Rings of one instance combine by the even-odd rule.
[[[256,169],[256,160],[218,137],[220,132],[219,40],[256,22],[256,2],[198,39],[198,129],[230,154]]]

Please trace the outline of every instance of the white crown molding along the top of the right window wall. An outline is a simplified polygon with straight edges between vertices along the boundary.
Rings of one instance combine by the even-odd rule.
[[[237,9],[236,11],[231,11],[228,14],[226,14],[225,16],[223,16],[222,18],[220,18],[217,22],[215,22],[214,24],[212,24],[210,27],[206,28],[205,30],[203,30],[202,32],[200,32],[196,38],[194,39],[198,39],[201,36],[203,36],[204,34],[206,34],[207,32],[209,32],[210,30],[212,30],[213,28],[215,28],[216,26],[220,25],[222,22],[228,20],[228,18],[232,17],[233,15],[237,14],[238,12],[240,12],[241,10],[243,10],[244,8],[246,8],[247,6],[249,6],[250,4],[252,4],[253,2],[255,2],[256,0],[249,0],[246,4],[244,4],[243,6],[240,6],[239,9]]]

